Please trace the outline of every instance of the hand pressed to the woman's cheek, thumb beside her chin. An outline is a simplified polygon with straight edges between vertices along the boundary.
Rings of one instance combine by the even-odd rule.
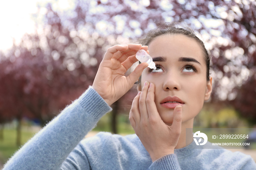
[[[142,92],[133,99],[129,114],[131,125],[153,162],[174,153],[182,120],[182,107],[177,106],[173,112],[172,125],[166,125],[157,111],[154,92],[154,84],[145,82]]]

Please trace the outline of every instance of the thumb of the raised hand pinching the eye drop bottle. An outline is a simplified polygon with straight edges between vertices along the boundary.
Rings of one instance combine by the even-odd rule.
[[[127,81],[130,86],[138,80],[141,76],[143,70],[148,66],[148,63],[140,63],[129,76],[127,76]]]

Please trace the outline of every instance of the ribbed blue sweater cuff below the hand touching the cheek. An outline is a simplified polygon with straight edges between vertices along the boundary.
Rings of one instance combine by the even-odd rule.
[[[177,156],[175,154],[166,155],[157,159],[149,168],[150,170],[180,170]]]

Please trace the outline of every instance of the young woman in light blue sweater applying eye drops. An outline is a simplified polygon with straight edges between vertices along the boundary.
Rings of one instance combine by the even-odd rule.
[[[110,47],[89,87],[59,116],[27,142],[4,169],[256,169],[253,159],[225,149],[196,149],[193,127],[212,91],[210,59],[195,34],[174,24],[150,31],[140,44]],[[144,49],[157,69],[140,63]],[[118,98],[139,79],[129,115],[134,135],[101,132],[84,136]]]

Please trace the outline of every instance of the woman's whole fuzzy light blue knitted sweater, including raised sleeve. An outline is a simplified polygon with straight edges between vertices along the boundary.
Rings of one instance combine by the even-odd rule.
[[[82,140],[110,110],[90,87],[16,152],[4,170],[256,169],[253,159],[241,152],[196,149],[194,143],[152,162],[135,134],[100,132]]]

